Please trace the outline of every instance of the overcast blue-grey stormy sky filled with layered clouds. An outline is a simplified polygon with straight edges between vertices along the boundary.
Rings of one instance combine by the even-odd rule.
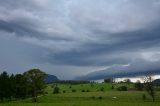
[[[160,73],[160,0],[0,0],[0,72],[59,79]]]

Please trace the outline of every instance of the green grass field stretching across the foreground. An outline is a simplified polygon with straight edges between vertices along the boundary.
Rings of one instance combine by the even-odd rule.
[[[132,87],[133,85],[128,85]],[[60,94],[53,94],[52,85],[48,85],[48,94],[38,97],[38,103],[32,103],[31,98],[0,104],[0,106],[160,106],[160,92],[156,92],[156,101],[144,91],[117,91],[111,89],[111,84],[59,84]],[[101,91],[101,88],[104,91]],[[72,90],[76,92],[72,92]],[[63,91],[65,90],[65,93]],[[88,92],[81,92],[82,90]],[[146,100],[142,95],[146,94]]]

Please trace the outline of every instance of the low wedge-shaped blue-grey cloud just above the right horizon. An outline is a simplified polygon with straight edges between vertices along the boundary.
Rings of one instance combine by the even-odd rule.
[[[78,80],[97,80],[105,78],[121,78],[121,77],[137,77],[144,75],[159,75],[160,62],[148,62],[144,60],[136,60],[126,65],[114,65],[104,70],[91,72],[85,76],[76,77]]]

